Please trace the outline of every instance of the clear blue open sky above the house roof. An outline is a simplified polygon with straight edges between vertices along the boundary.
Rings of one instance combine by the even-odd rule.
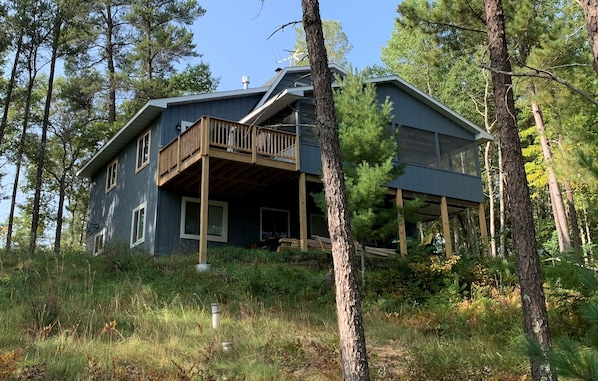
[[[206,13],[193,25],[194,42],[212,75],[220,78],[219,91],[242,89],[243,76],[249,76],[249,87],[260,87],[274,76],[276,68],[289,65],[295,25],[277,30],[301,21],[300,0],[198,2]],[[340,21],[353,45],[348,61],[354,68],[363,69],[381,64],[381,48],[391,37],[399,2],[321,0],[320,16]]]

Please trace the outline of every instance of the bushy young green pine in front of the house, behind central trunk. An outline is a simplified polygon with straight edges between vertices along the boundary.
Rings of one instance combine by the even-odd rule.
[[[384,205],[386,184],[400,171],[393,163],[395,132],[389,130],[392,104],[388,99],[378,103],[374,85],[363,74],[353,72],[337,82],[334,97],[351,227],[359,241],[375,239],[396,221],[396,212],[388,213]],[[325,210],[323,194],[312,196]]]

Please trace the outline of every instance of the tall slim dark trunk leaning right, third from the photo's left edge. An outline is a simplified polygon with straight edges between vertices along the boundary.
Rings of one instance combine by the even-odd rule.
[[[39,143],[39,156],[37,159],[37,171],[35,173],[35,195],[33,197],[33,210],[31,213],[31,231],[29,236],[29,254],[35,254],[37,246],[37,228],[39,227],[39,209],[41,203],[41,192],[43,186],[44,164],[46,161],[46,145],[48,140],[48,127],[50,125],[50,106],[52,105],[52,92],[54,91],[54,74],[56,72],[56,61],[58,59],[58,46],[60,45],[60,33],[62,28],[62,16],[57,11],[52,31],[52,56],[50,57],[50,73],[48,74],[48,89],[46,104],[44,106],[44,117],[42,119],[42,136]]]

